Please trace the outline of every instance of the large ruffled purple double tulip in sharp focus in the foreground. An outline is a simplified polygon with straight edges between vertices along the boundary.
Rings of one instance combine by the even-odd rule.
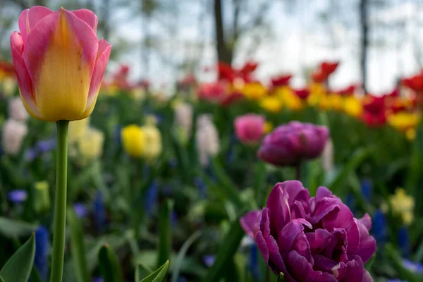
[[[310,197],[300,181],[277,183],[262,212],[249,212],[240,223],[288,282],[373,281],[364,269],[376,250],[370,216],[355,219],[327,188]]]

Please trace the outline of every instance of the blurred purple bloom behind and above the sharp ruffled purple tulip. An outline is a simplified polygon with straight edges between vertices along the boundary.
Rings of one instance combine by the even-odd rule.
[[[328,137],[326,126],[291,121],[264,137],[258,156],[276,166],[296,165],[319,157]]]

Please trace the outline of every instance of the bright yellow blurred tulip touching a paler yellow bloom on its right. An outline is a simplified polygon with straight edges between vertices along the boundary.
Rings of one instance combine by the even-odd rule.
[[[144,130],[137,125],[128,125],[121,130],[123,149],[130,157],[140,158],[145,149]]]

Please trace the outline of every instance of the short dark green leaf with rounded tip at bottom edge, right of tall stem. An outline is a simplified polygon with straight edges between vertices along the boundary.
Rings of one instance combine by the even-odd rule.
[[[99,251],[99,268],[104,282],[123,282],[118,256],[109,245],[104,245]]]

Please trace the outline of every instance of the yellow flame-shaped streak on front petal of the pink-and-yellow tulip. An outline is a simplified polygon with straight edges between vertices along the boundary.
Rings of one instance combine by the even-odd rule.
[[[90,68],[82,59],[81,43],[62,12],[54,36],[48,42],[35,96],[47,121],[78,120],[87,104]]]

